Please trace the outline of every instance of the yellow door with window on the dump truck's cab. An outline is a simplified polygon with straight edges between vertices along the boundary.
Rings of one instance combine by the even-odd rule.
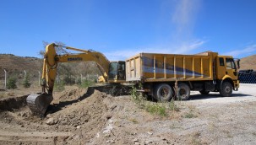
[[[226,58],[226,74],[237,80],[237,67],[233,58]]]

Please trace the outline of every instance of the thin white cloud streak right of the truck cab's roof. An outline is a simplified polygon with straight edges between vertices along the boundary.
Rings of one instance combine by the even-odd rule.
[[[237,57],[237,56],[242,56],[242,55],[248,55],[248,53],[252,53],[253,51],[256,51],[255,44],[251,45],[251,46],[246,46],[243,49],[225,52],[223,55]]]

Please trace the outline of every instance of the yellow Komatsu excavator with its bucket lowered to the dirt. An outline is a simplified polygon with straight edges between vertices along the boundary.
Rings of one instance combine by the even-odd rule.
[[[69,46],[62,47],[68,50],[79,51],[80,53],[57,55],[56,46],[54,43],[46,46],[41,76],[41,93],[30,94],[26,99],[27,105],[34,115],[45,115],[48,105],[52,102],[53,86],[57,76],[57,64],[59,62],[95,62],[102,73],[101,82],[125,82],[125,62],[110,62],[101,52],[81,50]]]

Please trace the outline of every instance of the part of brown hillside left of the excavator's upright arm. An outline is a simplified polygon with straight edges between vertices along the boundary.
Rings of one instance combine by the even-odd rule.
[[[0,78],[4,78],[3,69],[6,69],[9,75],[15,73],[22,76],[25,70],[30,76],[37,77],[42,65],[40,58],[12,54],[0,54],[0,62]]]

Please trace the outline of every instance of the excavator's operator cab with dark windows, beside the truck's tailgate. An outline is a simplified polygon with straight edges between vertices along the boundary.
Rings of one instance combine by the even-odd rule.
[[[109,83],[124,83],[125,82],[125,62],[110,62],[108,72]]]

